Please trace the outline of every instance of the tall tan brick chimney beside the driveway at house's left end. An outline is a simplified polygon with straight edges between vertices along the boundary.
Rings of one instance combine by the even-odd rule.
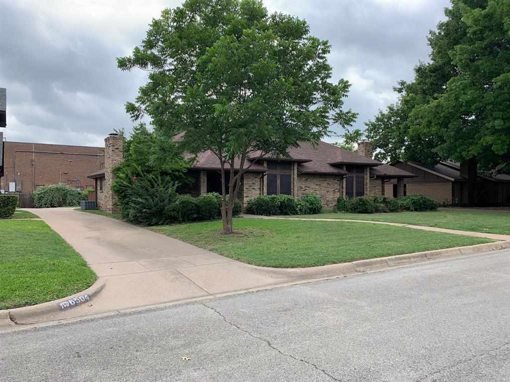
[[[122,161],[122,144],[124,138],[117,133],[111,133],[105,138],[105,206],[107,212],[118,213],[120,211],[117,196],[112,190],[114,175],[112,169]]]

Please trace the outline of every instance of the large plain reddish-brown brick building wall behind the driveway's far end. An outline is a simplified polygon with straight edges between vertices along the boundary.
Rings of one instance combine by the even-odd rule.
[[[85,189],[94,185],[87,176],[103,166],[103,148],[7,141],[4,160],[5,174],[0,178],[0,189],[8,190],[9,182],[16,179],[21,180],[22,193],[59,182],[78,186],[77,181],[70,179],[78,179],[80,187]]]

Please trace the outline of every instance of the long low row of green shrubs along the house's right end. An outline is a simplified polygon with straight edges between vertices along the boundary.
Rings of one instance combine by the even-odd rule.
[[[439,203],[425,195],[407,195],[401,199],[386,196],[339,197],[335,210],[350,213],[379,213],[399,211],[435,211]]]

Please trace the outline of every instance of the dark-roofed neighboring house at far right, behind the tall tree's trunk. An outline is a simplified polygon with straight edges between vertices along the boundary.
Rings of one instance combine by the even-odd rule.
[[[425,163],[398,160],[393,167],[412,172],[414,178],[404,179],[405,194],[425,194],[439,203],[467,203],[467,174],[461,165],[452,161],[441,161],[436,166]],[[386,195],[396,195],[397,184],[391,180],[386,184]],[[510,203],[510,174],[478,173],[476,201],[482,205]]]

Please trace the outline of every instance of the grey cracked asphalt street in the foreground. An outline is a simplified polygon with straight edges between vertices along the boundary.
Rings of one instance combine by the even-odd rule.
[[[510,251],[0,334],[0,380],[507,381]]]

